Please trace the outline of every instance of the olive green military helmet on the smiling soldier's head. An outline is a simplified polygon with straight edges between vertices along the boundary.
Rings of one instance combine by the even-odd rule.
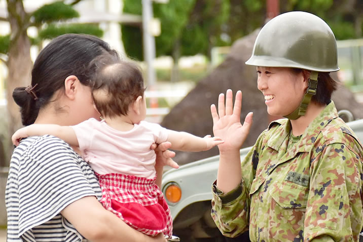
[[[336,72],[337,43],[321,18],[307,12],[287,12],[261,29],[246,64]]]

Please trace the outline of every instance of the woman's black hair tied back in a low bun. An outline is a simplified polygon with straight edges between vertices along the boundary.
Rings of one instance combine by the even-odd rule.
[[[48,105],[53,94],[64,89],[64,80],[75,75],[83,85],[91,86],[95,68],[89,66],[95,57],[107,53],[118,58],[115,50],[101,39],[86,34],[63,34],[53,39],[38,55],[31,72],[32,95],[25,87],[13,91],[20,106],[23,125],[34,123],[39,110]],[[34,96],[37,98],[34,98]]]

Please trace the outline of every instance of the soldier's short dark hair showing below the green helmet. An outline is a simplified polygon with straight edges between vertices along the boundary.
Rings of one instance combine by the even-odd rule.
[[[308,80],[310,75],[308,71],[304,71],[300,68],[293,68],[293,72],[296,74],[302,72],[305,80]],[[316,94],[311,97],[311,100],[321,105],[328,105],[332,98],[332,93],[337,90],[337,87],[338,82],[335,81],[329,73],[319,72]]]

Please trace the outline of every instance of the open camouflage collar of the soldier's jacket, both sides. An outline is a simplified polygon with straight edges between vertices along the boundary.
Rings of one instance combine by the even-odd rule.
[[[308,152],[311,146],[314,144],[317,135],[320,131],[328,125],[333,119],[338,117],[338,111],[335,108],[333,100],[321,111],[321,113],[309,124],[305,132],[302,134],[300,141],[295,146],[297,152]],[[271,136],[267,145],[272,149],[279,151],[282,143],[288,139],[288,135],[291,132],[291,123],[288,119],[279,119],[270,123],[269,128],[272,128],[274,124],[280,124],[276,132]]]

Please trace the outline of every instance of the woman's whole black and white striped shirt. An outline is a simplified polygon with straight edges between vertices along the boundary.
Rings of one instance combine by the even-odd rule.
[[[86,241],[60,212],[85,196],[101,197],[93,170],[51,135],[23,139],[15,148],[5,200],[8,242]]]

